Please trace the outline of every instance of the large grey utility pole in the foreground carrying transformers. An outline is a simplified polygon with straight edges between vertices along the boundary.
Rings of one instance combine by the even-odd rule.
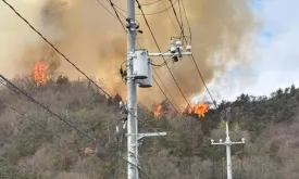
[[[183,55],[190,55],[191,46],[187,46],[188,52],[183,52],[180,40],[172,40],[170,53],[148,53],[146,49],[135,49],[136,36],[139,25],[135,21],[135,0],[127,0],[127,179],[139,179],[138,141],[145,137],[165,136],[166,132],[138,133],[137,119],[137,85],[139,88],[152,87],[152,63],[149,56],[172,56],[177,62]]]

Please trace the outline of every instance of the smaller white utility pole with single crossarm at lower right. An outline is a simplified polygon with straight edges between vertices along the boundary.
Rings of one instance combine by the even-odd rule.
[[[245,139],[241,139],[241,142],[232,142],[228,133],[228,122],[226,122],[226,140],[222,142],[220,139],[219,143],[214,143],[214,140],[211,140],[211,144],[213,145],[225,145],[226,146],[226,169],[227,169],[227,179],[233,179],[233,166],[232,166],[232,157],[231,157],[231,146],[233,144],[244,144]]]

